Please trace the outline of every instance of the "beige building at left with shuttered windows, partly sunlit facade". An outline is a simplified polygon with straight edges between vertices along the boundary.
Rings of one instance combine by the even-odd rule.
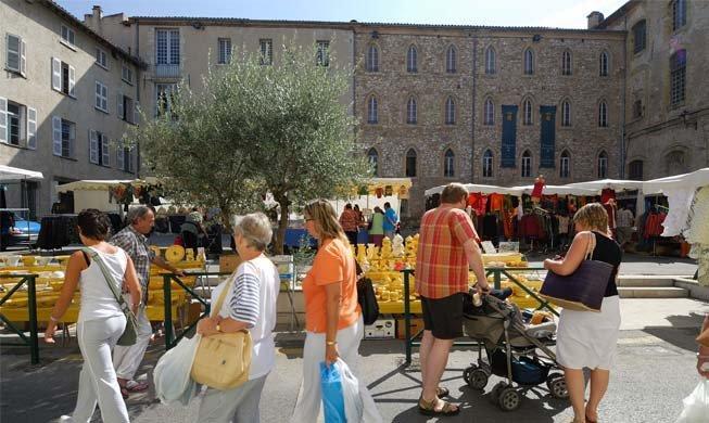
[[[139,61],[51,1],[3,0],[0,22],[0,164],[43,174],[9,184],[8,206],[72,210],[56,185],[135,178],[121,140],[137,124]]]

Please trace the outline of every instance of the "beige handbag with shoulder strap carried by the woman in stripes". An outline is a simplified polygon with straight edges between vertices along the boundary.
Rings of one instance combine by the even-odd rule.
[[[212,317],[217,316],[236,277],[224,286]],[[192,362],[192,380],[208,387],[226,390],[249,381],[251,366],[251,333],[242,330],[233,333],[202,336]]]

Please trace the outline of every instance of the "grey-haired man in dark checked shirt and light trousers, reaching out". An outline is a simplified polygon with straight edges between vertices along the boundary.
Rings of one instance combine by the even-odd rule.
[[[148,388],[147,383],[138,383],[132,379],[145,355],[150,336],[153,334],[153,328],[145,313],[150,265],[152,262],[173,273],[185,275],[181,270],[168,264],[162,257],[155,256],[155,253],[150,249],[145,235],[150,234],[155,225],[153,210],[145,206],[134,207],[128,211],[126,219],[128,226],[113,235],[111,243],[123,248],[132,260],[136,267],[136,273],[138,274],[138,282],[140,282],[143,292],[143,298],[136,315],[136,319],[138,320],[138,338],[136,343],[131,346],[116,345],[113,349],[113,366],[116,368],[116,376],[124,398],[127,398],[131,392],[140,392]],[[124,297],[126,302],[130,303],[128,296]]]

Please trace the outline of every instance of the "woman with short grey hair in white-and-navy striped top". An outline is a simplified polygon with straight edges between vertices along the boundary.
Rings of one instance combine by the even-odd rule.
[[[236,278],[231,292],[213,318],[197,326],[202,336],[224,332],[251,333],[253,351],[249,381],[232,389],[208,388],[200,406],[198,422],[258,422],[258,402],[266,376],[276,363],[273,330],[276,326],[276,302],[280,287],[278,269],[264,255],[270,243],[270,221],[263,213],[246,215],[235,228],[235,243],[243,262],[229,278]],[[212,292],[215,304],[227,282]]]

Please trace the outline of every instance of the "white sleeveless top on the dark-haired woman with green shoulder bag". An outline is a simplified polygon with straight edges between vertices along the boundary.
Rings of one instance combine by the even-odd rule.
[[[123,278],[126,273],[128,258],[126,252],[118,248],[114,254],[103,253],[97,248],[89,247],[103,260],[111,275],[113,275],[113,285],[118,293],[122,292]],[[88,268],[81,271],[79,275],[79,286],[81,289],[81,306],[79,309],[79,322],[97,319],[107,319],[115,316],[123,316],[113,291],[109,287],[101,267],[91,259]]]

